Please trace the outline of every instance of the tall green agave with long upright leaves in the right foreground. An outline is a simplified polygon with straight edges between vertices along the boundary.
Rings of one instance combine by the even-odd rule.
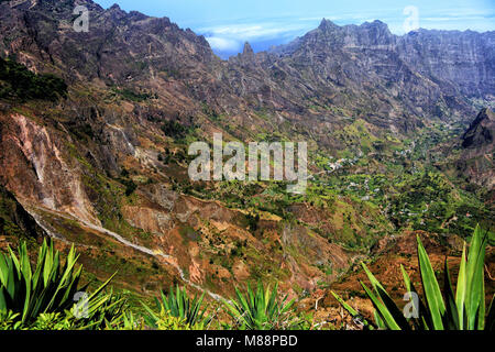
[[[446,260],[443,295],[419,237],[417,241],[419,271],[426,298],[425,300],[419,298],[418,307],[415,307],[417,318],[405,318],[403,311],[395,305],[382,284],[363,263],[373,290],[362,282],[361,285],[375,308],[375,323],[363,321],[364,327],[369,329],[377,327],[389,330],[494,330],[494,299],[492,299],[487,315],[485,309],[484,260],[487,235],[483,235],[480,227],[476,227],[468,257],[464,243],[455,294]],[[409,275],[403,266],[400,268],[406,289],[419,297],[418,290],[410,280]],[[351,316],[362,318],[355,309],[345,304],[336,293],[332,292],[332,295]]]

